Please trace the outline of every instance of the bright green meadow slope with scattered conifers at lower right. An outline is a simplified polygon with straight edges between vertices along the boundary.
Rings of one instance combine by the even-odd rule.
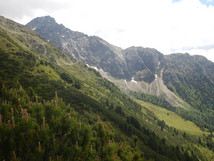
[[[183,148],[194,149],[198,154],[201,153],[205,160],[214,159],[213,149],[206,145],[208,138],[214,139],[210,132],[202,131],[193,122],[183,119],[175,112],[141,100],[136,101],[142,105],[142,113],[150,116],[143,118],[148,127],[159,133],[160,137],[176,142]]]

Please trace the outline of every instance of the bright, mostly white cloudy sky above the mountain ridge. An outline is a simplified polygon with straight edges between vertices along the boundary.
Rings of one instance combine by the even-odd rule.
[[[0,15],[21,24],[50,15],[123,49],[150,47],[214,62],[214,0],[0,0]]]

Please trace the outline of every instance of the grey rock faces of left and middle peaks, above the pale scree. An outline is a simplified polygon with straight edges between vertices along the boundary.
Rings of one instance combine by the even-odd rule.
[[[71,31],[49,16],[36,18],[27,26],[78,61],[118,79],[152,82],[163,66],[164,56],[155,49],[131,47],[122,50],[97,36]]]

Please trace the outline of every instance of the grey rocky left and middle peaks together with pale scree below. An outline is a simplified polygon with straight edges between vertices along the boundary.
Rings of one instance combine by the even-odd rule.
[[[172,94],[163,83],[159,83],[159,80],[163,82],[161,70],[166,60],[157,50],[142,47],[122,50],[99,37],[71,31],[49,16],[36,18],[27,26],[78,61],[99,70],[103,77],[117,84],[123,91],[145,92],[183,107],[183,101]]]

